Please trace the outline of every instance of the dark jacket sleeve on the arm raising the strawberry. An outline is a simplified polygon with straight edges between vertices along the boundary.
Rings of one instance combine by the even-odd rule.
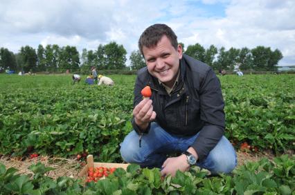
[[[133,108],[138,105],[143,100],[143,96],[141,95],[141,90],[145,87],[145,83],[139,79],[139,75],[137,75],[135,85],[134,85],[134,100],[133,100]],[[134,121],[134,116],[132,116],[132,127],[134,130],[138,133],[141,134],[143,130],[141,130],[138,125],[136,125]],[[144,133],[147,133],[150,130],[150,124],[148,125],[147,129],[145,130]]]

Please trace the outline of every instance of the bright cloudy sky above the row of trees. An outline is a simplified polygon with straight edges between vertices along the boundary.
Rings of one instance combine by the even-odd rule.
[[[262,45],[283,53],[278,65],[295,65],[294,0],[0,0],[0,48],[57,44],[81,53],[116,41],[129,59],[154,23],[169,25],[185,48]]]

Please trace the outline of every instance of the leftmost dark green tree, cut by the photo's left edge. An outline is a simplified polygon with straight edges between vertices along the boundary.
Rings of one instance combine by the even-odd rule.
[[[0,68],[17,70],[15,54],[10,52],[7,48],[0,48]]]

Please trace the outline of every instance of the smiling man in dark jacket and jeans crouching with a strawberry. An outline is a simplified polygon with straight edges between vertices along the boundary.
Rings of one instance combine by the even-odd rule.
[[[138,71],[130,132],[120,153],[128,163],[159,167],[175,176],[197,165],[212,174],[236,165],[233,146],[224,134],[224,101],[220,81],[208,65],[182,54],[170,27],[154,24],[138,41],[147,67]],[[141,90],[149,85],[150,99]],[[181,152],[177,157],[170,153]]]

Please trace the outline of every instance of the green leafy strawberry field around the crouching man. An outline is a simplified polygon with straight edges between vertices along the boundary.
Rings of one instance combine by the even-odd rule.
[[[119,144],[132,130],[135,76],[113,75],[113,87],[73,85],[71,76],[0,74],[0,155],[85,156],[122,163]],[[237,167],[231,176],[206,177],[197,167],[161,180],[159,170],[130,165],[86,186],[72,178],[53,180],[50,167],[32,165],[34,176],[0,165],[4,194],[294,194],[295,77],[220,77],[226,103],[226,136],[236,150],[271,152]],[[281,156],[285,154],[284,156]],[[26,191],[27,190],[27,191]],[[7,193],[6,193],[7,192]]]

